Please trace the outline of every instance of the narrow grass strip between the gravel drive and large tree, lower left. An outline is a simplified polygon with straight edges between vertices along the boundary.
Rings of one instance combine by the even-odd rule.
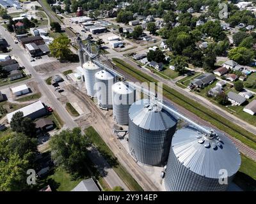
[[[108,161],[108,163],[113,167],[113,170],[119,175],[120,178],[125,182],[127,187],[131,191],[143,191],[141,186],[132,178],[130,173],[125,170],[125,168],[119,163],[118,159],[115,157],[113,152],[109,149],[106,143],[102,140],[99,134],[93,129],[89,127],[84,130],[86,136],[90,138],[92,143],[97,147],[102,156]]]

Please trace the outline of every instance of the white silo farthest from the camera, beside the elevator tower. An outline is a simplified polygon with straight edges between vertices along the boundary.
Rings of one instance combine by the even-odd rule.
[[[95,97],[96,91],[93,89],[95,85],[95,73],[97,73],[97,71],[99,71],[101,68],[97,66],[97,64],[88,61],[83,64],[83,69],[87,95]]]

